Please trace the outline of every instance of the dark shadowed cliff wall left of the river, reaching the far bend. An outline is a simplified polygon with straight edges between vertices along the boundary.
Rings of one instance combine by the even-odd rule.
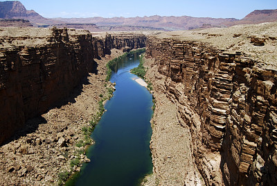
[[[100,38],[66,28],[15,29],[3,29],[0,38],[0,144],[24,127],[27,119],[68,96],[96,69],[93,58],[105,56],[115,47],[145,47],[143,35]],[[14,35],[7,37],[8,33]]]

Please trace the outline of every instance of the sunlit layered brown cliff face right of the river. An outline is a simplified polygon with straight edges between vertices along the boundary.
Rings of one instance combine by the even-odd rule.
[[[276,185],[276,69],[197,41],[149,37],[146,53],[166,76],[179,124],[190,128],[206,185]]]

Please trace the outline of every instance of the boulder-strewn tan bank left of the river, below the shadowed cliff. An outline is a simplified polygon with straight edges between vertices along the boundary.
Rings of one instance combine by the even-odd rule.
[[[58,185],[89,162],[84,152],[84,146],[93,144],[86,137],[89,121],[112,87],[105,81],[105,65],[122,54],[112,49],[111,55],[96,60],[97,74],[89,74],[69,99],[27,121],[25,131],[0,147],[0,185]]]

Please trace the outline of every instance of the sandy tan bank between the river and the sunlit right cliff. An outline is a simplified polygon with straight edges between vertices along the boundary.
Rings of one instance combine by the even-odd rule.
[[[202,185],[190,150],[189,128],[179,124],[177,105],[165,94],[166,76],[159,74],[154,63],[153,59],[144,62],[148,68],[145,79],[153,83],[155,99],[150,142],[153,174],[146,176],[141,185]]]

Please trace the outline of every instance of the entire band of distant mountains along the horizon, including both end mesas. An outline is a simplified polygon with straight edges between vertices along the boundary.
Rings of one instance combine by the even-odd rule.
[[[91,18],[55,18],[46,19],[34,10],[26,10],[20,1],[1,1],[0,19],[12,19],[14,21],[3,21],[1,25],[15,26],[25,25],[26,22],[15,21],[15,19],[29,20],[33,26],[67,26],[68,28],[82,28],[89,31],[175,31],[190,30],[195,28],[226,27],[235,24],[258,24],[262,22],[276,22],[277,10],[255,10],[243,19],[234,18],[211,18],[211,17],[189,17],[189,16],[159,16],[150,17],[91,17]],[[95,25],[96,24],[96,25]],[[26,24],[27,25],[27,24]],[[29,24],[28,24],[29,25]]]

